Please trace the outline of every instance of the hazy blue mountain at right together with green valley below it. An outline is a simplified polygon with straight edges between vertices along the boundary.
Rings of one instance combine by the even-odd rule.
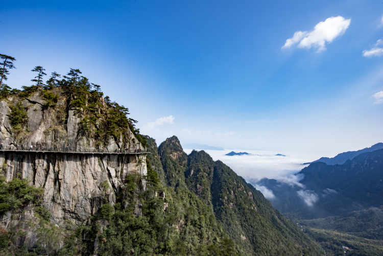
[[[383,149],[362,153],[342,165],[314,162],[295,175],[290,183],[275,179],[253,183],[277,210],[301,224],[327,255],[343,255],[344,246],[352,255],[383,255],[379,246]]]

